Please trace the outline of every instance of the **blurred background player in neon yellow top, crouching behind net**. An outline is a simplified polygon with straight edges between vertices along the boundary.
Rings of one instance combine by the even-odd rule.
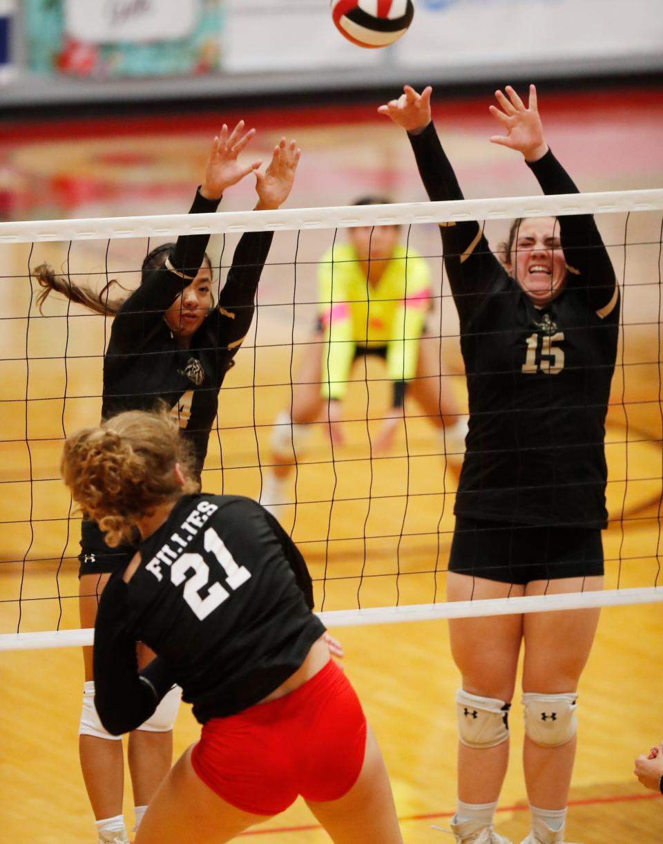
[[[354,204],[389,202],[369,196]],[[465,449],[466,417],[447,383],[439,344],[424,338],[434,295],[429,265],[402,243],[401,226],[348,229],[348,241],[332,246],[319,267],[318,322],[293,379],[292,409],[283,410],[274,426],[273,467],[261,494],[261,504],[277,516],[279,505],[294,500],[289,477],[313,424],[324,421],[333,444],[345,443],[343,399],[353,366],[366,355],[385,361],[391,381],[391,408],[371,443],[374,454],[391,446],[406,394],[438,431],[442,453],[460,462]]]

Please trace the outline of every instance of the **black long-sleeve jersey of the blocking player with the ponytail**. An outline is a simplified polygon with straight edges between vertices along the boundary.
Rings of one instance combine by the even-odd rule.
[[[197,192],[190,214],[217,207],[218,200]],[[151,273],[121,307],[105,354],[102,403],[107,419],[123,410],[152,409],[163,400],[191,441],[198,472],[208,451],[218,391],[251,326],[272,232],[242,236],[218,305],[191,338],[191,347],[180,349],[164,322],[164,311],[198,272],[208,241],[209,235],[181,235],[170,254],[174,271]]]

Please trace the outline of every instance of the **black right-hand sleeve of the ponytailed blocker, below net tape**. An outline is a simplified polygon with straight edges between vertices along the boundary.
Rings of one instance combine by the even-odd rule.
[[[272,238],[271,231],[251,231],[241,236],[224,289],[218,297],[218,307],[209,317],[218,344],[233,353],[240,348],[251,327],[258,282]]]

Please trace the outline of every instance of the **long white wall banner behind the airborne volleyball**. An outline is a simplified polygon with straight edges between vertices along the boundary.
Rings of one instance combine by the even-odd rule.
[[[425,68],[456,82],[503,66],[563,75],[611,62],[628,70],[631,58],[663,65],[663,0],[415,0],[410,29],[382,50],[345,41],[328,0],[227,0],[226,9],[227,71],[317,71],[311,84],[325,68],[375,68],[376,78],[380,68]]]

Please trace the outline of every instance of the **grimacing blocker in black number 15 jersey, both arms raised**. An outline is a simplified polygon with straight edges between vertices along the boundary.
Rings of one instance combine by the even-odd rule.
[[[577,192],[548,149],[531,86],[496,93],[491,112],[546,193]],[[378,111],[407,129],[431,200],[462,199],[431,122],[430,87]],[[476,222],[440,227],[461,323],[470,421],[455,504],[448,598],[602,587],[605,419],[619,292],[594,219],[517,220],[500,262]],[[525,641],[527,844],[557,844],[576,744],[576,689],[598,610],[450,621],[456,696],[456,841],[505,842],[493,814],[508,754],[508,711]]]

